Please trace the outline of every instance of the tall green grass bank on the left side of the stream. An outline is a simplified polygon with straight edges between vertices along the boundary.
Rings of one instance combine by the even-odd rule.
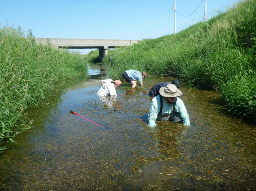
[[[24,110],[39,106],[58,83],[86,71],[79,53],[36,44],[31,31],[25,36],[20,27],[0,28],[0,152],[30,128],[22,124]]]

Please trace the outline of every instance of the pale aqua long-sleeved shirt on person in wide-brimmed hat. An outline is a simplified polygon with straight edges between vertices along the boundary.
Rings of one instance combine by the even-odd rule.
[[[176,98],[175,101],[175,112],[180,113],[181,115],[181,119],[183,120],[184,125],[190,126],[190,119],[189,119],[189,115],[187,113],[187,110],[185,108],[185,105],[183,103],[183,101],[180,98]],[[156,126],[156,119],[157,119],[157,115],[159,113],[160,110],[160,96],[156,96],[152,99],[151,103],[150,103],[150,110],[149,110],[149,115],[148,115],[148,125],[150,127],[154,127]],[[172,106],[173,104],[168,105],[165,101],[164,101],[164,97],[163,97],[163,108],[162,108],[162,114],[170,114],[172,113]]]

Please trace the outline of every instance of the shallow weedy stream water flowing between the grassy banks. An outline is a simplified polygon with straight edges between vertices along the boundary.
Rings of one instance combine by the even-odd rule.
[[[63,84],[26,117],[33,128],[0,156],[2,190],[255,190],[255,125],[229,116],[215,91],[181,84],[190,127],[147,126],[148,92],[172,78],[147,77],[144,88],[122,81],[117,94],[100,100],[105,75]],[[79,115],[97,123],[74,115]]]

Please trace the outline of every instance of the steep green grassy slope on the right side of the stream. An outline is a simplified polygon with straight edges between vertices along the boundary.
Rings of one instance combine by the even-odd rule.
[[[218,90],[234,115],[256,121],[256,1],[245,0],[177,34],[109,51],[109,76],[127,69]],[[90,53],[89,58],[98,52]],[[109,56],[114,58],[109,64]],[[93,58],[95,59],[95,58]],[[92,60],[92,59],[91,59]]]

